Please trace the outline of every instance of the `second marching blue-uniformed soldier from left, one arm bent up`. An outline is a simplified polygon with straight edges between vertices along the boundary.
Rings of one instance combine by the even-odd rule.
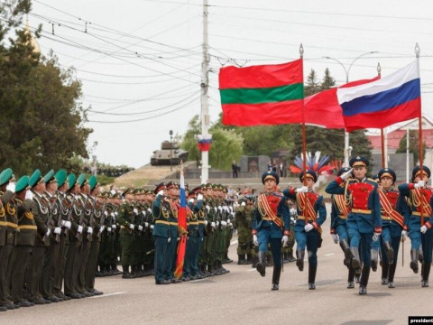
[[[304,270],[305,247],[309,252],[309,290],[316,289],[316,273],[318,270],[318,247],[321,241],[322,229],[320,226],[327,219],[327,209],[323,202],[323,196],[313,190],[318,181],[318,175],[312,170],[299,174],[299,181],[307,178],[305,186],[300,189],[289,188],[283,191],[284,196],[296,200],[298,220],[295,224],[295,240],[297,244],[296,265],[299,271]]]

